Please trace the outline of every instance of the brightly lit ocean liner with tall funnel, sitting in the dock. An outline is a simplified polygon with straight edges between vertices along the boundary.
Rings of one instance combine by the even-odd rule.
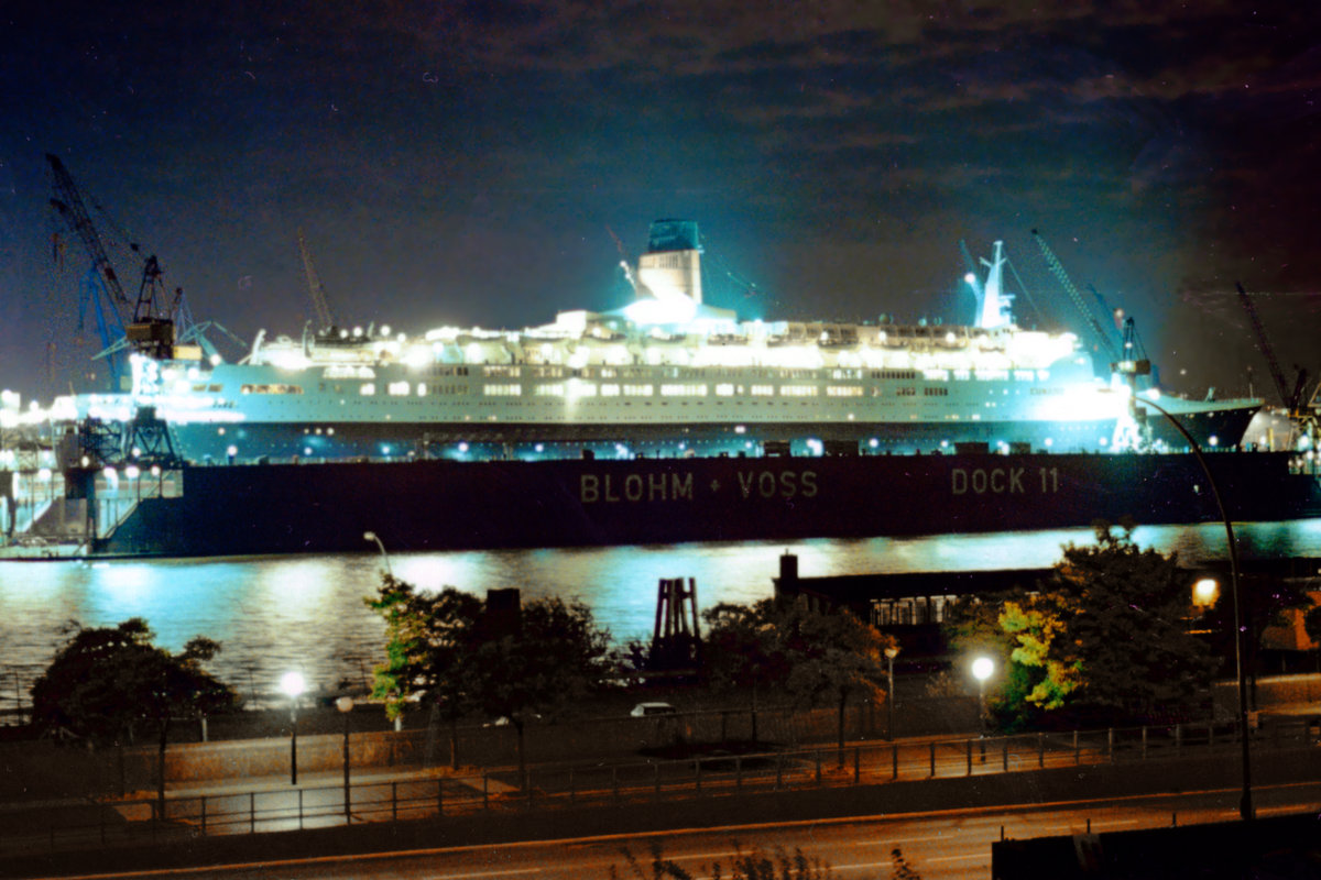
[[[658,220],[614,311],[522,330],[263,332],[238,363],[180,344],[133,355],[131,389],[61,398],[54,414],[155,412],[174,455],[218,464],[1185,449],[1148,400],[1198,445],[1232,447],[1263,404],[1157,397],[1098,371],[1074,334],[1017,326],[999,241],[958,326],[740,319],[703,302],[701,253],[695,222]]]

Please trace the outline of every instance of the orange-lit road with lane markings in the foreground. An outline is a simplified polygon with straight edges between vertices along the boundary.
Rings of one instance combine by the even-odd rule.
[[[991,843],[1001,838],[1122,831],[1172,823],[1232,821],[1238,817],[1238,789],[1184,794],[1152,794],[1112,801],[1075,801],[1030,807],[992,807],[922,815],[861,817],[840,821],[738,826],[655,835],[561,839],[445,850],[375,854],[350,858],[252,862],[243,865],[198,868],[172,875],[198,879],[280,877],[280,880],[357,880],[410,877],[411,880],[501,880],[538,876],[592,880],[635,876],[624,851],[634,854],[650,876],[650,851],[659,846],[695,877],[711,877],[719,862],[729,876],[736,843],[789,852],[801,848],[820,859],[843,880],[892,876],[892,852],[898,848],[923,880],[964,880],[991,876]],[[1254,790],[1258,815],[1321,810],[1321,782],[1260,786]],[[166,872],[120,873],[124,880],[159,877]],[[87,875],[98,876],[98,875]]]

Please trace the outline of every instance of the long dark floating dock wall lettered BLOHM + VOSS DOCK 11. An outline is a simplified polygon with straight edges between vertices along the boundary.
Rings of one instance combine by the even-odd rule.
[[[1275,453],[1206,456],[1229,516],[1321,516]],[[232,555],[882,537],[1219,521],[1197,458],[875,455],[185,467],[102,555]]]

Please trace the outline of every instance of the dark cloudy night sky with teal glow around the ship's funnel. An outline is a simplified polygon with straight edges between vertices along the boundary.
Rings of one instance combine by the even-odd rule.
[[[25,396],[99,348],[48,152],[131,294],[132,240],[244,343],[312,315],[300,228],[341,321],[421,332],[624,305],[612,231],[635,260],[687,218],[745,317],[967,323],[959,241],[1004,239],[1020,323],[1081,331],[1038,228],[1174,391],[1276,397],[1235,281],[1288,377],[1321,372],[1314,3],[89,7],[0,7],[0,387]]]

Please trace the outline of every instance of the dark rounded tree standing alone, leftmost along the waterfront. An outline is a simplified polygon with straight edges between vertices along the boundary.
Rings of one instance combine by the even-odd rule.
[[[202,669],[221,645],[198,636],[182,653],[172,654],[152,644],[153,633],[141,617],[116,627],[74,625],[77,632],[32,686],[33,724],[94,745],[132,743],[139,723],[155,727],[157,801],[164,807],[170,722],[214,715],[236,705],[234,691]]]

